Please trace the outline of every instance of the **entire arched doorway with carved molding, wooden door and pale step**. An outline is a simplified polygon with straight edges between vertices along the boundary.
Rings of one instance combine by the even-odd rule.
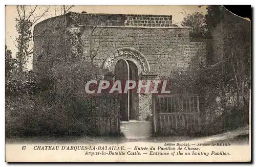
[[[102,63],[102,67],[106,71],[106,78],[112,81],[122,81],[122,89],[127,80],[134,80],[138,83],[139,80],[154,80],[155,76],[151,73],[146,57],[131,47],[113,50]],[[146,121],[146,116],[150,114],[151,109],[141,107],[142,104],[145,104],[145,99],[137,93],[137,87],[135,90],[130,90],[129,93],[119,95],[121,103],[117,108],[120,116],[118,116],[120,132],[129,139],[149,137],[152,123]],[[150,98],[150,96],[148,97]],[[150,101],[146,100],[146,103],[148,106],[150,105]]]

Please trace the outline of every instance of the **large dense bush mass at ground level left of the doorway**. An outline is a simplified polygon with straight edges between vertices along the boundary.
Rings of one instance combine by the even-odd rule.
[[[111,95],[89,96],[84,90],[87,81],[101,77],[89,68],[82,63],[59,66],[37,76],[32,90],[11,93],[6,98],[6,135],[117,135],[115,113],[108,106]]]

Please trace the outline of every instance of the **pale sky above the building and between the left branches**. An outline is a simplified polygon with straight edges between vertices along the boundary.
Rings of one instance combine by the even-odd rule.
[[[27,8],[29,9],[30,6]],[[32,6],[33,9],[34,6]],[[202,14],[206,13],[206,7],[202,6],[199,8],[199,6],[195,5],[165,5],[165,6],[124,6],[124,5],[105,5],[105,6],[80,6],[76,5],[73,8],[71,8],[70,11],[72,12],[78,12],[81,13],[82,11],[86,11],[87,13],[110,13],[110,14],[159,14],[159,15],[172,15],[173,16],[173,23],[179,23],[183,20],[183,18],[188,15],[192,14],[194,12],[200,12]],[[39,15],[46,9],[46,6],[38,6],[36,8],[35,14]],[[61,7],[60,6],[50,6],[49,12],[42,18],[40,18],[38,22],[45,20],[50,17],[54,17],[56,15],[60,15],[61,13]],[[5,41],[6,45],[9,50],[12,51],[13,56],[15,56],[16,53],[16,41],[15,38],[18,35],[15,29],[16,21],[15,18],[18,17],[16,6],[6,6],[5,7]],[[33,29],[33,28],[32,28]],[[33,30],[32,30],[33,32]],[[30,58],[30,62],[27,65],[28,70],[32,69],[32,57]]]

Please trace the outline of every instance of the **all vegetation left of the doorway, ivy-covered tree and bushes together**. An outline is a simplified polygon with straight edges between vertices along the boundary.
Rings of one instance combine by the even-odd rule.
[[[66,14],[71,7],[61,9]],[[31,27],[41,18],[41,15],[35,15],[36,9],[37,6],[29,10],[17,6],[16,30],[19,36],[16,38],[15,58],[6,46],[6,136],[118,135],[114,127],[116,113],[109,107],[110,103],[115,103],[113,98],[109,94],[91,95],[84,90],[87,81],[99,80],[102,76],[96,65],[78,55],[80,51],[66,49],[67,45],[74,45],[78,40],[72,32],[66,31],[66,18],[61,17],[60,21],[50,25],[53,32],[43,29],[39,34],[45,35],[46,45],[36,60],[45,63],[44,68],[37,73],[26,70],[33,53]],[[67,40],[69,35],[72,41]],[[61,59],[64,55],[65,61],[48,61],[47,56],[55,51],[55,47],[59,47],[59,57]],[[100,105],[103,102],[108,104]]]

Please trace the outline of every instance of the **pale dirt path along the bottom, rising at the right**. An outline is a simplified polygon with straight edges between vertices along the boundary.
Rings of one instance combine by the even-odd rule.
[[[129,127],[130,125],[126,125]],[[52,137],[52,136],[38,136],[38,137],[15,137],[7,138],[7,144],[13,143],[23,143],[23,144],[33,144],[33,143],[74,143],[74,144],[120,144],[124,142],[194,142],[194,143],[207,143],[207,142],[230,142],[232,144],[238,145],[248,145],[249,144],[249,127],[239,128],[230,132],[206,136],[206,137],[189,137],[189,136],[168,136],[168,137],[146,137],[147,131],[142,131],[140,127],[134,128],[135,131],[140,131],[140,135],[134,138],[134,133],[127,133],[126,137],[89,137],[89,136],[63,136],[63,137]],[[125,126],[124,126],[125,127]],[[125,128],[123,127],[123,130]],[[136,132],[137,133],[137,132]],[[129,138],[130,137],[130,138]]]

